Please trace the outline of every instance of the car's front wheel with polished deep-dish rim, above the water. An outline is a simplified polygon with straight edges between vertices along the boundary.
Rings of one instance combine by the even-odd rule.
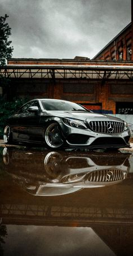
[[[63,147],[64,141],[60,127],[57,123],[51,123],[46,128],[45,142],[50,149],[59,149],[60,147]]]

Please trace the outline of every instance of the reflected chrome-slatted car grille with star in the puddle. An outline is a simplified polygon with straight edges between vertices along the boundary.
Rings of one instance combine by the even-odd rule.
[[[89,173],[87,180],[92,182],[110,182],[123,180],[124,175],[121,170],[108,169]]]

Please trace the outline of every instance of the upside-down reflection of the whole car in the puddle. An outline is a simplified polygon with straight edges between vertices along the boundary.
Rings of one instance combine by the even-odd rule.
[[[34,196],[59,196],[126,179],[129,154],[3,149],[5,170]]]

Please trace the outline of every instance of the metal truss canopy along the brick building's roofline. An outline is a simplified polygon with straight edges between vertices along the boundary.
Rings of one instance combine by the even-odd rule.
[[[8,64],[0,68],[0,76],[36,79],[133,79],[133,66],[103,64]]]

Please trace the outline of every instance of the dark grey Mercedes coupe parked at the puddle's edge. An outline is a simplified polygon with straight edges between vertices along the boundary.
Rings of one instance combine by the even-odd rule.
[[[96,114],[77,103],[60,99],[33,99],[8,118],[6,144],[32,142],[60,147],[130,147],[130,130],[121,119]]]

